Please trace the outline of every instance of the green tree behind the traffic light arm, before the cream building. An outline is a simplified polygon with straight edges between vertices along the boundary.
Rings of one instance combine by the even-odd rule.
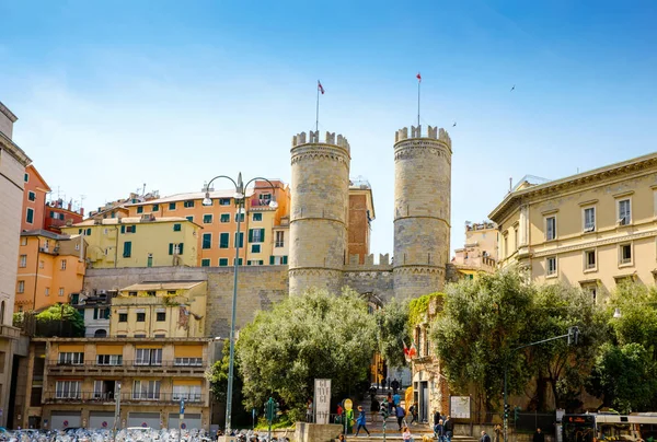
[[[604,321],[589,293],[565,284],[538,288],[527,342],[563,336],[573,326],[579,327],[580,333],[576,346],[568,346],[566,339],[556,339],[526,350],[539,380],[532,404],[535,408],[579,407],[579,394],[593,365],[597,348],[606,338]],[[542,379],[550,384],[554,397],[549,406],[544,403]]]

